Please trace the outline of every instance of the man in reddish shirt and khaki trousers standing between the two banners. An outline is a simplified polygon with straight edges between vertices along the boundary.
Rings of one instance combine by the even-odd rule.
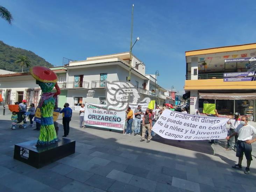
[[[151,136],[152,118],[153,118],[153,115],[151,114],[150,109],[147,108],[146,113],[145,113],[145,115],[143,116],[143,119],[142,119],[142,134],[141,134],[140,142],[145,141],[145,133],[146,133],[147,129],[148,129],[148,141],[147,141],[147,143],[150,142],[150,140],[152,138],[152,136]]]

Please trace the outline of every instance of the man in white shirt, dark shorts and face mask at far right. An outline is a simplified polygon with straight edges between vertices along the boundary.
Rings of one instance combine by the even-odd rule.
[[[234,169],[242,169],[242,160],[243,154],[246,156],[247,159],[247,167],[244,170],[245,174],[250,173],[250,164],[253,161],[251,157],[251,143],[256,141],[256,138],[253,138],[253,134],[256,134],[256,129],[248,124],[249,118],[243,116],[240,121],[240,125],[238,125],[235,129],[235,133],[230,136],[227,136],[226,139],[229,140],[231,137],[238,134],[238,141],[237,141],[237,149],[236,149],[236,156],[238,157],[238,164],[232,166]]]

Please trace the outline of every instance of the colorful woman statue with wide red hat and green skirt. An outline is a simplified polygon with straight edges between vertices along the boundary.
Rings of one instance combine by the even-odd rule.
[[[61,93],[57,84],[58,77],[52,70],[43,66],[32,67],[30,73],[43,93],[38,104],[41,111],[41,129],[36,145],[49,145],[58,141],[52,117],[54,109],[58,107],[57,95]],[[56,92],[52,93],[54,87]]]

